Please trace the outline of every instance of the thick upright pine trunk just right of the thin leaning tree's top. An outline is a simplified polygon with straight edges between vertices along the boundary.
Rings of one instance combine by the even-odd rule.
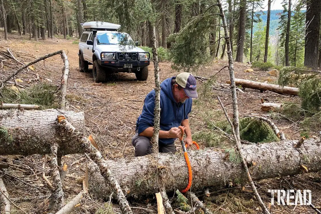
[[[243,62],[244,41],[245,41],[245,21],[246,21],[246,0],[240,1],[239,13],[239,35],[237,42],[236,59],[237,62]]]

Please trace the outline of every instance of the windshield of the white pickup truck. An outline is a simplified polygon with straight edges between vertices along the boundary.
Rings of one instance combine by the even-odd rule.
[[[97,44],[134,45],[127,33],[97,33]]]

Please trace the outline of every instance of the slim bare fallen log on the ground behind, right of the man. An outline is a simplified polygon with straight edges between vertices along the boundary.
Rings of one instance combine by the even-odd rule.
[[[230,84],[230,81],[227,81],[227,83]],[[243,79],[235,79],[236,85],[241,85],[243,88],[250,88],[250,89],[257,89],[260,91],[273,91],[277,92],[279,94],[290,94],[290,95],[298,95],[299,89],[288,87],[288,86],[280,86],[280,85],[274,85],[269,83],[263,83],[263,82],[257,82],[257,81],[251,81],[251,80],[243,80]]]

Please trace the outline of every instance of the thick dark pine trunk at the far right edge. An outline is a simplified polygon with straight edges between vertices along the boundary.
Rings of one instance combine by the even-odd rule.
[[[317,70],[321,1],[307,0],[304,66]]]

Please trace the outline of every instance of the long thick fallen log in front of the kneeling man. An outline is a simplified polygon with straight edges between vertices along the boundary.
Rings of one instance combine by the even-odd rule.
[[[321,143],[316,139],[307,139],[300,148],[297,141],[282,141],[262,144],[242,144],[249,171],[253,180],[272,178],[281,175],[295,175],[301,172],[304,164],[309,171],[321,170]],[[224,188],[229,181],[247,183],[247,175],[239,160],[230,161],[224,150],[193,150],[188,156],[193,170],[193,191],[213,186]],[[184,189],[188,182],[188,171],[181,153],[159,153],[159,164],[155,157],[122,158],[105,160],[124,193],[129,197],[141,197],[155,193],[156,183],[164,185],[166,191]],[[158,176],[157,176],[158,173]],[[89,166],[90,193],[100,198],[108,197],[114,190],[107,185],[99,168]]]

